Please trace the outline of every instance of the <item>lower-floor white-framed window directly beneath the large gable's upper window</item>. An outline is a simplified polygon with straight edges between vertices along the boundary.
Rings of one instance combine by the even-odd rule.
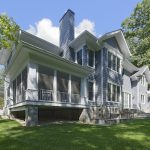
[[[112,83],[107,84],[107,100],[113,102],[120,101],[120,86]]]

